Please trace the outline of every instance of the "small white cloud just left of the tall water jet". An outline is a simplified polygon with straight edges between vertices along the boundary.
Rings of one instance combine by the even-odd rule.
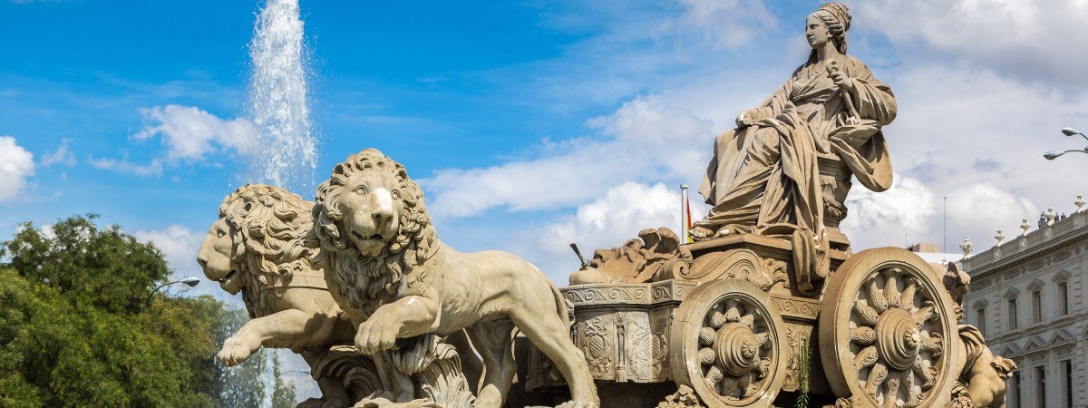
[[[146,140],[162,136],[168,146],[170,162],[203,160],[206,154],[222,150],[245,153],[256,133],[254,124],[245,119],[223,120],[196,107],[168,104],[141,109],[144,119],[152,124],[134,135]]]

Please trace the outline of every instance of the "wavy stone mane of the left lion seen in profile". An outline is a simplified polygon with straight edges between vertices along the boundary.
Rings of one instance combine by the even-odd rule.
[[[296,272],[310,270],[317,251],[305,240],[313,228],[313,203],[283,188],[263,184],[239,187],[219,205],[219,217],[233,226],[233,259],[244,279],[243,300],[251,318],[274,313],[268,296],[282,296]]]

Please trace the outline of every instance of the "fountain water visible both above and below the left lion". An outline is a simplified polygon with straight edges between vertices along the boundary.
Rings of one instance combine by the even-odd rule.
[[[267,0],[249,42],[252,74],[246,109],[256,132],[246,144],[248,169],[237,175],[239,182],[280,186],[304,197],[312,194],[318,146],[307,107],[304,54],[298,0]],[[221,391],[220,404],[262,408],[272,407],[273,401],[294,405],[295,393],[292,384],[283,381],[279,356],[268,350],[242,366],[224,368],[221,376],[228,386]],[[300,358],[295,359],[296,366],[307,368]]]

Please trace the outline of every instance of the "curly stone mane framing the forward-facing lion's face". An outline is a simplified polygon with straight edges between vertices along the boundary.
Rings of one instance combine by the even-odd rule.
[[[363,257],[348,240],[348,231],[342,224],[344,214],[338,209],[347,180],[366,172],[391,172],[396,185],[384,187],[399,197],[397,234],[376,257]],[[424,272],[417,267],[438,249],[437,235],[423,205],[423,191],[408,177],[404,165],[376,149],[351,154],[336,164],[332,176],[318,187],[317,200],[313,231],[321,243],[321,252],[314,257],[314,264],[332,274],[347,306],[363,318],[391,301],[405,276],[417,270]]]

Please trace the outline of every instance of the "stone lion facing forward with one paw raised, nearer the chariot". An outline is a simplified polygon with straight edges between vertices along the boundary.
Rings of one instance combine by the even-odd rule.
[[[398,339],[466,330],[483,357],[477,406],[498,408],[517,372],[517,327],[559,367],[570,384],[568,405],[599,406],[555,284],[514,255],[461,254],[438,240],[423,193],[403,165],[375,149],[353,154],[318,187],[317,201],[322,250],[314,262],[360,323],[355,343],[361,351],[376,355]]]

